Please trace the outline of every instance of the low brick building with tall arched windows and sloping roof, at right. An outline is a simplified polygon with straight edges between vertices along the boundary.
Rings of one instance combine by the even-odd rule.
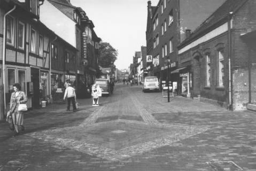
[[[179,45],[180,93],[245,110],[255,103],[256,2],[227,0]]]

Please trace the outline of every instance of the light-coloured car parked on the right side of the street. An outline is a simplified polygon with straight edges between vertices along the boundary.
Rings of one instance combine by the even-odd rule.
[[[156,76],[146,76],[142,91],[159,91],[159,81]]]

